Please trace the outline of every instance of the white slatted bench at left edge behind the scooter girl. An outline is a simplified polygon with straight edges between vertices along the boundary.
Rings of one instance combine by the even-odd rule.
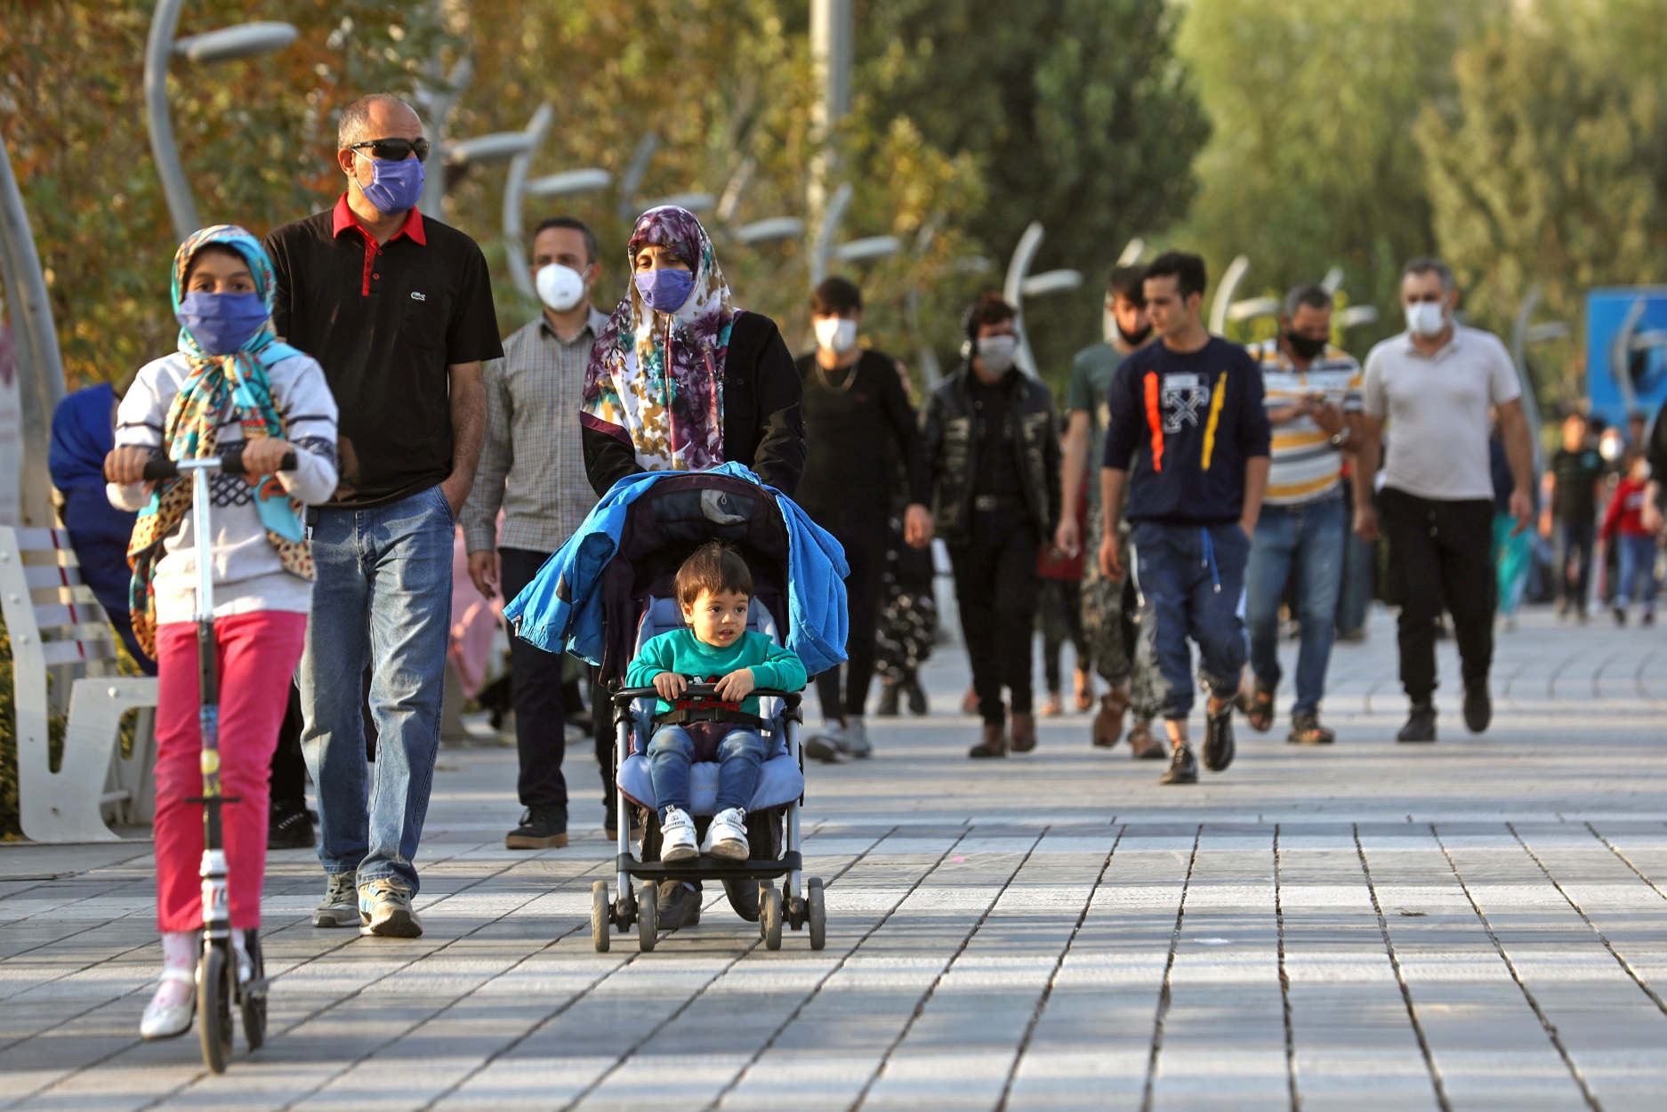
[[[0,527],[0,612],[12,639],[18,817],[35,842],[117,842],[107,825],[152,820],[157,680],[117,674],[115,630],[82,584],[62,528]],[[48,675],[52,682],[48,684]],[[48,719],[68,704],[52,769]],[[122,715],[138,710],[133,752]]]

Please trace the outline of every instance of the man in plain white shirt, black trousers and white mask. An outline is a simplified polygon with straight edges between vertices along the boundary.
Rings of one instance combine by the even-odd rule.
[[[1382,513],[1390,589],[1400,602],[1400,685],[1412,702],[1395,737],[1400,742],[1435,740],[1435,622],[1444,605],[1459,644],[1465,725],[1480,734],[1494,715],[1487,690],[1497,595],[1490,410],[1497,410],[1510,457],[1517,532],[1527,528],[1534,507],[1534,442],[1510,355],[1490,332],[1455,323],[1457,303],[1447,263],[1414,258],[1400,275],[1407,330],[1365,357],[1355,532],[1374,540]],[[1389,462],[1374,508],[1385,422]]]

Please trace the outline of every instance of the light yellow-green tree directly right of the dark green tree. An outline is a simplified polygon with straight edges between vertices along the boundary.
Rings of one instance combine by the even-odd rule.
[[[1212,132],[1175,243],[1200,250],[1212,275],[1247,255],[1240,295],[1340,265],[1352,300],[1384,313],[1377,333],[1399,328],[1400,265],[1435,242],[1412,127],[1450,90],[1482,2],[1194,0],[1179,48]]]

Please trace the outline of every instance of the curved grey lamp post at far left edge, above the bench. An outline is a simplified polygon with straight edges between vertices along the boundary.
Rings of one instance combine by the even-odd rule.
[[[12,157],[0,142],[0,278],[5,280],[18,345],[18,417],[23,425],[23,513],[32,525],[52,522],[52,477],[47,448],[52,413],[63,398],[63,358],[52,323],[47,282],[35,253],[35,233],[23,210],[23,193],[12,175]]]

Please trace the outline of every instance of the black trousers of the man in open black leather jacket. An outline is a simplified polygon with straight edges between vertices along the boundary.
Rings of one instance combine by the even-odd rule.
[[[1037,620],[1037,532],[1015,513],[975,513],[972,540],[949,550],[960,632],[972,660],[979,714],[1002,725],[1002,689],[1014,714],[1030,712],[1030,639]]]

